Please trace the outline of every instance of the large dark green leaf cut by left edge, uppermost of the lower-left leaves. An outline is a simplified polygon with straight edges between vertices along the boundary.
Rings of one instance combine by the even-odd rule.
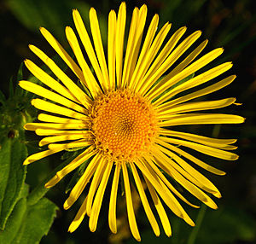
[[[26,156],[26,146],[18,139],[3,141],[0,150],[0,229],[4,229],[19,200],[26,177],[26,166],[22,166]]]

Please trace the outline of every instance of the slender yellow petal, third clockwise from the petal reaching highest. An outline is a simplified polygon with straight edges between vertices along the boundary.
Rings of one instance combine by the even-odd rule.
[[[131,89],[135,85],[135,78],[137,76],[137,73],[139,72],[140,67],[142,66],[142,63],[145,59],[145,56],[148,54],[148,49],[150,48],[150,46],[153,42],[154,35],[155,35],[156,30],[157,30],[158,22],[159,22],[159,15],[154,15],[153,19],[151,20],[150,26],[148,27],[148,32],[147,32],[146,38],[144,40],[143,48],[142,48],[142,50],[140,52],[140,55],[139,55],[139,58],[138,58],[138,61],[137,61],[137,64],[136,64],[136,68],[135,69],[133,68],[134,72],[133,72],[133,76],[131,78],[131,81],[130,81],[130,78],[129,78],[128,85],[129,85],[129,88],[131,88]]]

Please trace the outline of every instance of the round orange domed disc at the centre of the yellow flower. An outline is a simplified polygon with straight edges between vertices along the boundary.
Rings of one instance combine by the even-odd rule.
[[[99,97],[90,117],[96,148],[111,160],[133,160],[150,149],[157,133],[154,108],[129,90]]]

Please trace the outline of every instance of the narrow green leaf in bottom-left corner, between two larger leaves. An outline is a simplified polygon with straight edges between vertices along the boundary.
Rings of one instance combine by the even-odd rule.
[[[6,223],[6,228],[4,231],[2,232],[2,230],[0,230],[0,243],[14,243],[15,235],[18,234],[20,225],[23,224],[23,218],[25,215],[26,198],[22,198],[15,205],[15,208]]]

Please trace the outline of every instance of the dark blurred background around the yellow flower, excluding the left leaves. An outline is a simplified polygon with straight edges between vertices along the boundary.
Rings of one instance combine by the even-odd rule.
[[[35,44],[48,55],[55,53],[41,36],[38,28],[46,27],[55,35],[60,43],[69,50],[65,38],[65,26],[73,26],[72,9],[79,9],[89,28],[88,13],[90,7],[95,7],[100,20],[103,43],[107,43],[108,12],[118,11],[120,1],[99,0],[5,0],[0,2],[0,54],[1,64],[0,86],[3,94],[9,96],[9,80],[13,77],[17,83],[16,74],[22,61],[32,59],[40,64],[27,45]],[[202,160],[227,172],[225,177],[206,174],[220,189],[223,198],[216,200],[219,209],[212,211],[202,207],[201,211],[184,206],[198,227],[191,228],[181,219],[169,213],[172,221],[172,237],[167,238],[161,229],[160,237],[155,237],[143,209],[137,201],[137,222],[142,234],[143,243],[226,243],[253,244],[256,243],[256,3],[249,0],[145,0],[127,1],[128,21],[135,6],[148,5],[148,21],[154,13],[160,15],[160,25],[166,21],[172,22],[172,30],[187,26],[187,35],[201,30],[202,38],[209,39],[207,50],[224,47],[224,55],[214,64],[223,61],[233,61],[234,67],[230,73],[236,73],[233,84],[208,98],[218,99],[236,96],[242,106],[229,107],[223,111],[236,113],[246,117],[244,125],[200,126],[191,127],[189,131],[201,132],[211,137],[238,138],[236,151],[240,159],[236,162],[226,162],[201,156]],[[130,24],[126,24],[126,29]],[[23,68],[24,78],[28,72]],[[188,129],[187,129],[188,131]],[[28,135],[29,137],[30,135]],[[35,138],[37,140],[37,138]],[[29,148],[30,153],[37,151],[36,143]],[[26,183],[35,188],[44,181],[50,171],[60,164],[59,157],[41,160],[38,164],[28,166]],[[69,224],[77,212],[80,202],[71,210],[64,211],[62,204],[67,195],[67,184],[70,178],[49,190],[47,197],[59,210],[55,222],[40,243],[136,243],[131,237],[126,220],[124,197],[119,197],[117,235],[112,235],[108,229],[108,197],[103,202],[98,227],[95,233],[90,233],[88,218],[73,234],[67,233]],[[108,194],[106,194],[108,195]],[[136,195],[134,196],[136,199]],[[192,199],[193,201],[194,199]],[[194,200],[194,202],[196,202]],[[198,202],[197,202],[198,203]]]

